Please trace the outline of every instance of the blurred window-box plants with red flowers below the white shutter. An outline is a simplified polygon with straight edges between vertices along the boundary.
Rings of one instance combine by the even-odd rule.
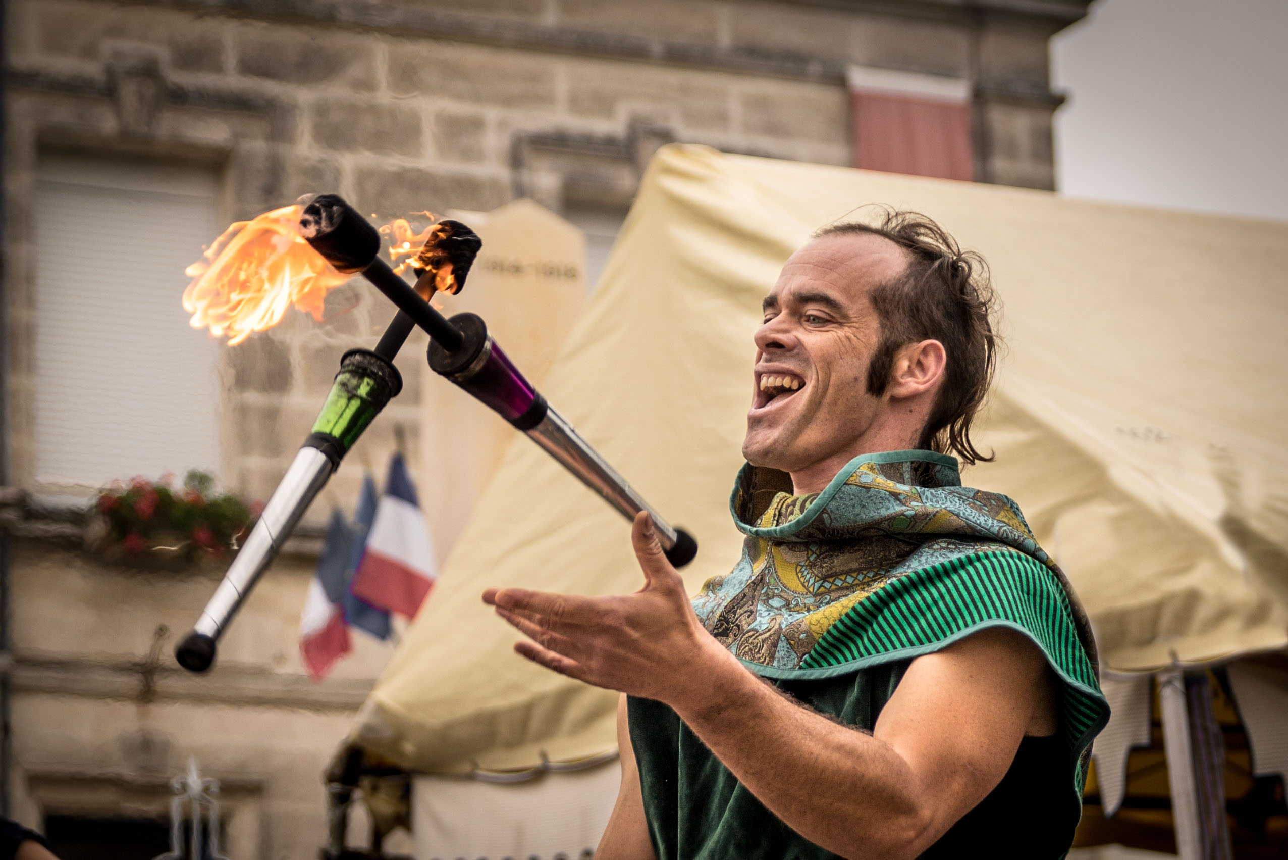
[[[229,493],[216,493],[209,472],[191,469],[179,487],[171,480],[137,477],[99,491],[95,507],[107,522],[104,547],[126,556],[167,548],[189,561],[224,558],[236,548],[258,512]]]

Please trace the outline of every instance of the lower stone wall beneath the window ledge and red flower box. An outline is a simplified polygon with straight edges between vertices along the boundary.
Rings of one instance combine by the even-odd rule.
[[[220,780],[227,854],[309,860],[326,838],[322,771],[392,645],[354,634],[322,683],[300,665],[312,560],[283,557],[209,676],[174,663],[222,566],[134,570],[21,540],[14,600],[12,815],[167,819],[189,757]],[[365,843],[365,833],[355,833]],[[393,842],[392,842],[393,845]]]

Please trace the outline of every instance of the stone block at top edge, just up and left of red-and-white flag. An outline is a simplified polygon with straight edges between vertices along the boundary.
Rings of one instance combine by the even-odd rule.
[[[804,4],[742,4],[729,15],[733,48],[850,59],[858,15]]]

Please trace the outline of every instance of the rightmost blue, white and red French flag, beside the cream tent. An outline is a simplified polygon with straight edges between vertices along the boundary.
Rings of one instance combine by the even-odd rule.
[[[352,591],[367,603],[415,618],[438,578],[434,544],[402,454],[389,460],[385,494]]]

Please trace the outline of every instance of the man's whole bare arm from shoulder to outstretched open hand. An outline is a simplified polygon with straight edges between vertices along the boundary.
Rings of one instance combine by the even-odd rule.
[[[873,734],[838,725],[761,682],[702,628],[644,514],[634,540],[645,575],[634,594],[489,589],[484,601],[532,637],[515,645],[528,659],[671,705],[761,803],[844,857],[916,857],[1001,781],[1025,730],[1047,718],[1041,654],[994,629],[914,660]],[[630,821],[623,803],[625,788],[612,843],[605,834],[614,848]]]

